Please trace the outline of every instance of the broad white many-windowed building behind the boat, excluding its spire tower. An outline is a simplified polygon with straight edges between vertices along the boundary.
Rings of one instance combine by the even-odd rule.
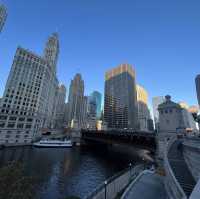
[[[0,143],[30,143],[41,127],[51,127],[58,85],[53,67],[45,57],[17,48],[0,107]]]

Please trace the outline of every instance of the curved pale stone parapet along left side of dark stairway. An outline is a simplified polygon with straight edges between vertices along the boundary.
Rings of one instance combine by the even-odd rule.
[[[165,187],[166,187],[166,191],[169,195],[169,198],[187,199],[187,196],[185,195],[182,187],[180,186],[179,182],[177,181],[177,179],[172,171],[172,168],[170,166],[170,163],[168,161],[168,152],[176,140],[177,140],[177,137],[173,136],[166,143],[166,147],[165,147],[165,151],[164,151],[164,167],[165,167],[165,173],[166,173]]]

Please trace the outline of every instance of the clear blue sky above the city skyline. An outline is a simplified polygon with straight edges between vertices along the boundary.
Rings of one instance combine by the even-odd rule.
[[[153,96],[197,104],[200,73],[199,0],[4,0],[8,19],[0,34],[0,96],[18,45],[40,55],[57,31],[58,79],[69,87],[80,72],[85,93],[103,93],[104,74],[134,65],[137,83]]]

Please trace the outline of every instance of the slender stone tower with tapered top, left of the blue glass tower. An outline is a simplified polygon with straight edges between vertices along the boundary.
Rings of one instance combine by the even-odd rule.
[[[85,99],[84,99],[84,81],[81,74],[76,74],[74,79],[71,80],[69,89],[69,123],[76,120],[78,127],[84,126],[84,112],[85,112]],[[86,103],[87,104],[87,103]]]

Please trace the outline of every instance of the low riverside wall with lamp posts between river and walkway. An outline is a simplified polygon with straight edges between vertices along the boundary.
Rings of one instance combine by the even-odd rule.
[[[137,165],[119,172],[100,184],[84,199],[114,199],[143,169],[143,165]]]

